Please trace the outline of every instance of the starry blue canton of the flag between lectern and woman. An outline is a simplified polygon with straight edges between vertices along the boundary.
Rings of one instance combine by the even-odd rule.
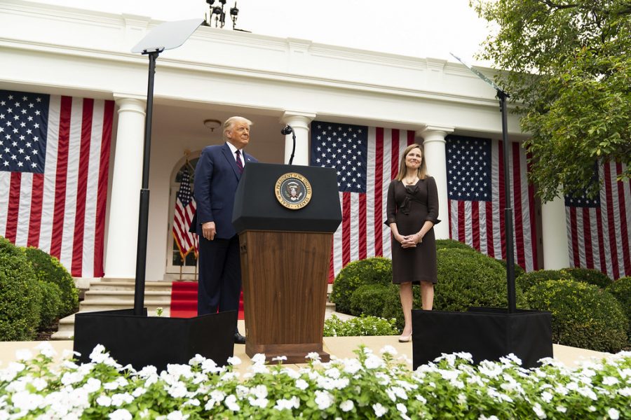
[[[311,165],[335,168],[343,193],[366,193],[368,127],[318,123],[311,131]]]

